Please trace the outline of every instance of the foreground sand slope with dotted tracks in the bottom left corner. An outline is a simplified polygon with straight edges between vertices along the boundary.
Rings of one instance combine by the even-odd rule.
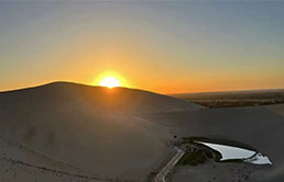
[[[0,181],[107,181],[0,137]]]

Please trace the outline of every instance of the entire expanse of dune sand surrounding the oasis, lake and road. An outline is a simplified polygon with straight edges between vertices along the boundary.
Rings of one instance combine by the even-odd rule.
[[[231,175],[223,163],[175,167],[166,180],[282,182],[283,111],[208,110],[148,91],[68,82],[0,92],[0,181],[151,181],[176,138],[218,136],[253,146],[273,166],[229,163]]]

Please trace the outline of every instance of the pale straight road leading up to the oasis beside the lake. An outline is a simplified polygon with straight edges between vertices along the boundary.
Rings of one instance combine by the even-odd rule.
[[[177,150],[176,155],[173,157],[173,159],[167,162],[167,164],[159,172],[159,174],[155,178],[155,182],[165,182],[166,174],[174,168],[174,166],[178,162],[178,160],[184,156],[184,150],[179,148],[175,148]]]

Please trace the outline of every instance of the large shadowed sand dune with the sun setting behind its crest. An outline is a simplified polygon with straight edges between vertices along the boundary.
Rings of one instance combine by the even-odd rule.
[[[0,134],[91,177],[144,179],[173,136],[142,115],[198,109],[141,90],[56,82],[0,93]]]

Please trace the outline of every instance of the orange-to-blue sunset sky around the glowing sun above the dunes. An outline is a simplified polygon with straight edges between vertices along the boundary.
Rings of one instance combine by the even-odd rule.
[[[106,72],[159,93],[284,88],[284,1],[0,2],[0,91]]]

